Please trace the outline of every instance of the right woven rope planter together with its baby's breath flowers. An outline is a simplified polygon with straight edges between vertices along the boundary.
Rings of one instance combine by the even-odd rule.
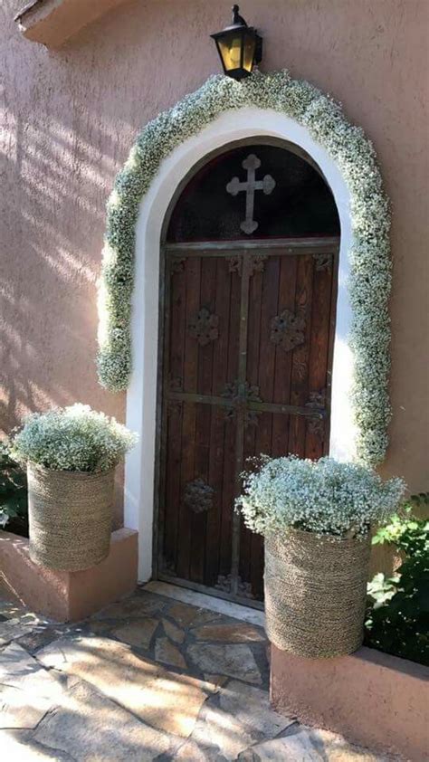
[[[236,501],[265,538],[267,633],[278,648],[322,658],[363,640],[370,531],[396,510],[401,479],[357,463],[262,458]]]

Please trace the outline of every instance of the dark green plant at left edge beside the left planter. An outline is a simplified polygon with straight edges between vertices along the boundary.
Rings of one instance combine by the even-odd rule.
[[[0,443],[0,527],[11,520],[26,524],[27,477],[10,455],[6,443]]]

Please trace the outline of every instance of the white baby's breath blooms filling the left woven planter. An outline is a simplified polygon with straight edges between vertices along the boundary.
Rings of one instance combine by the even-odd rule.
[[[137,435],[89,405],[29,415],[12,437],[18,462],[55,471],[109,471],[136,443]]]

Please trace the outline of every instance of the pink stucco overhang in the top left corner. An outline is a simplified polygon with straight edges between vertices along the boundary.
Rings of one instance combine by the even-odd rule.
[[[59,48],[91,22],[129,0],[33,0],[14,17],[27,40]]]

